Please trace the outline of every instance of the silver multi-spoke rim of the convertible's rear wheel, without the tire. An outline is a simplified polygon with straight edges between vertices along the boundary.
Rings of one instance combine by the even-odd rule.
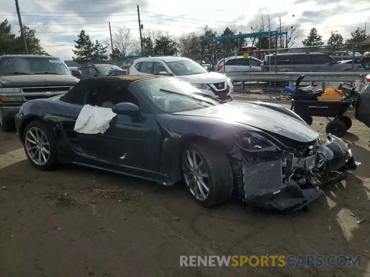
[[[44,165],[50,157],[50,145],[44,132],[37,127],[28,129],[24,138],[28,157],[37,165]]]

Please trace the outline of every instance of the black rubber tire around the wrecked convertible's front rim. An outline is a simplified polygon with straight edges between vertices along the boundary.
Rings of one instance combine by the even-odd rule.
[[[203,207],[210,207],[221,204],[231,198],[233,192],[233,174],[228,158],[224,153],[217,148],[205,143],[188,144],[182,154],[181,168],[182,178],[185,184],[185,167],[183,159],[186,158],[187,151],[194,150],[202,159],[205,169],[208,174],[209,192],[205,200],[199,200],[188,188],[193,199]]]

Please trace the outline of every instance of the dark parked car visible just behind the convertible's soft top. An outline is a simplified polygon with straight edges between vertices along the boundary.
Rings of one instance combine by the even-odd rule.
[[[114,64],[84,64],[77,68],[80,73],[75,72],[78,79],[86,79],[102,76],[125,75],[126,71]]]

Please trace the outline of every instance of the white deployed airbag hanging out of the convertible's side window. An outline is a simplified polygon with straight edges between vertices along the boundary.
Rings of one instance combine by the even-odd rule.
[[[104,134],[116,115],[110,108],[85,105],[77,117],[74,130],[83,134]]]

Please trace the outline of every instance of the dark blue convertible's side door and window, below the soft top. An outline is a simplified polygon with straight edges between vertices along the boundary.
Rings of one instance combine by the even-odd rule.
[[[145,104],[139,102],[128,89],[112,85],[112,82],[93,86],[85,99],[85,104],[104,106],[106,109],[122,102],[139,106],[140,116],[117,114],[104,134],[76,133],[83,153],[95,160],[118,165],[127,174],[138,175],[137,169],[158,172],[159,127],[154,114],[148,112]],[[110,103],[110,106],[105,103]],[[74,122],[82,107],[73,111],[71,116]]]

